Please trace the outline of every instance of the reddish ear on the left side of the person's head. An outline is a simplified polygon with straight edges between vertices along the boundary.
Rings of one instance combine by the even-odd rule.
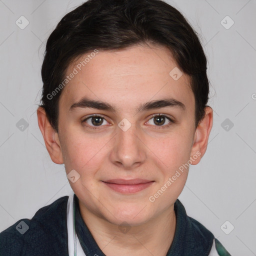
[[[51,160],[57,164],[62,164],[63,157],[58,133],[49,123],[44,108],[40,106],[37,108],[37,121]]]

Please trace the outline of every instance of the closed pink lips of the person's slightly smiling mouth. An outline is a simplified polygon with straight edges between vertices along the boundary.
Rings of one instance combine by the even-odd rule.
[[[154,181],[135,178],[135,179],[109,179],[103,181],[111,189],[121,193],[135,193],[150,186]]]

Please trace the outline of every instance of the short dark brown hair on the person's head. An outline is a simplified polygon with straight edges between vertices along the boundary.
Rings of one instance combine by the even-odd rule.
[[[118,50],[138,43],[166,46],[179,69],[189,75],[195,127],[198,125],[208,101],[207,61],[196,32],[184,16],[161,0],[88,0],[60,20],[46,43],[39,106],[56,131],[61,91],[54,96],[52,92],[65,79],[72,61],[95,49]]]

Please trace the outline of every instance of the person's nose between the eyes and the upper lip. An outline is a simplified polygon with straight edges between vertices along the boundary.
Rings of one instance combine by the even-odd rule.
[[[127,130],[120,127],[116,127],[110,160],[118,167],[134,169],[145,161],[145,145],[138,130],[136,130],[135,123],[132,123]]]

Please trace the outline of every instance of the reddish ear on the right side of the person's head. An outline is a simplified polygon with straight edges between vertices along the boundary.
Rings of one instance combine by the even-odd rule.
[[[194,133],[194,139],[193,139],[193,144],[192,144],[191,153],[190,153],[190,159],[193,159],[191,164],[193,165],[197,164],[202,158],[202,156],[204,155],[207,148],[208,137],[212,127],[212,119],[213,119],[212,108],[210,106],[206,106],[204,110],[205,110],[204,118],[197,125]],[[196,159],[195,157],[193,157],[195,155],[197,155]]]

